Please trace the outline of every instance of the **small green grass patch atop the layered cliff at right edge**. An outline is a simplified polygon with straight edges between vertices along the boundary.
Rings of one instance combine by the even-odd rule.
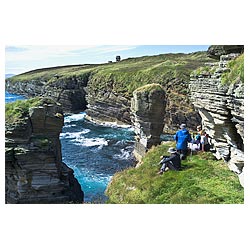
[[[230,61],[227,67],[230,71],[222,74],[222,84],[234,84],[239,80],[244,83],[244,54]]]

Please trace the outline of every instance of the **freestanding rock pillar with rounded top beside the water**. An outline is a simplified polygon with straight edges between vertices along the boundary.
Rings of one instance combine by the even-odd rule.
[[[165,118],[165,95],[159,84],[148,84],[133,93],[131,119],[136,134],[134,155],[138,160],[153,145],[160,143]]]

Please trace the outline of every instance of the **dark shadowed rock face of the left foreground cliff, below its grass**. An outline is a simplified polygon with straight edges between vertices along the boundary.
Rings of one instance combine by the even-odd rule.
[[[6,122],[6,203],[83,201],[73,170],[62,162],[62,126],[61,107],[46,102],[31,107],[22,119]]]

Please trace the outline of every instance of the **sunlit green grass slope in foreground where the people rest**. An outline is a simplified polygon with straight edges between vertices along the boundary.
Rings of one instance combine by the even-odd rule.
[[[117,173],[106,193],[108,203],[127,204],[233,204],[244,202],[237,176],[212,154],[189,156],[183,170],[158,175],[160,156],[170,145],[151,149],[139,168]]]

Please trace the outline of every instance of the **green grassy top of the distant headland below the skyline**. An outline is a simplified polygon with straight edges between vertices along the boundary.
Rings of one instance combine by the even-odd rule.
[[[116,63],[73,65],[33,70],[8,79],[11,82],[44,82],[49,84],[67,78],[90,77],[93,88],[112,88],[117,93],[131,95],[148,83],[167,84],[174,78],[189,79],[190,72],[205,62],[214,61],[206,52],[162,54],[129,58]]]

